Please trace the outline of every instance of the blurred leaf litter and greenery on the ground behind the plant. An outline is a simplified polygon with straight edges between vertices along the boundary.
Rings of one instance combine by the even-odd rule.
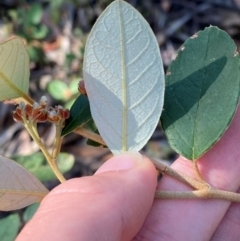
[[[87,36],[98,16],[112,0],[1,0],[0,43],[20,36],[30,56],[30,95],[49,105],[70,108],[78,96]],[[129,0],[152,27],[164,68],[178,48],[194,33],[209,25],[228,32],[239,48],[240,0]],[[0,87],[1,88],[1,87]],[[48,189],[59,182],[39,153],[27,131],[12,119],[14,106],[0,103],[0,154],[14,159],[34,173]],[[51,148],[54,127],[39,126],[41,137]],[[110,156],[106,148],[86,145],[79,135],[64,138],[59,166],[67,179],[92,175]],[[171,164],[177,155],[168,145],[160,125],[144,147],[144,154]],[[12,241],[38,204],[14,212],[0,212],[0,240]]]

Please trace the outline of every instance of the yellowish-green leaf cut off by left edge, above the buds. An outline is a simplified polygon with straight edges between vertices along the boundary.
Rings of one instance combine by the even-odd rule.
[[[23,97],[29,88],[29,57],[19,38],[0,45],[0,101]]]

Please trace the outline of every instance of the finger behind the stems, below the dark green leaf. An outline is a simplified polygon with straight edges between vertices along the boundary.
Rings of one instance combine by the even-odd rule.
[[[198,161],[200,172],[212,186],[236,191],[240,184],[240,109],[222,139]],[[192,163],[179,158],[172,167],[192,175]],[[164,176],[161,190],[191,190]],[[135,240],[210,240],[230,202],[221,200],[156,200]],[[173,231],[174,230],[174,231]]]

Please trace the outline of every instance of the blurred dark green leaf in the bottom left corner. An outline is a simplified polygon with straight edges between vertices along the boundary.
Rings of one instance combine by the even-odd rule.
[[[21,222],[18,214],[11,214],[0,219],[0,240],[14,241],[18,235]]]

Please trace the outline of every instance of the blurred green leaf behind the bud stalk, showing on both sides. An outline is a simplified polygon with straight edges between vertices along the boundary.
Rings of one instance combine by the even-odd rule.
[[[15,156],[14,159],[42,182],[56,179],[54,172],[42,153],[34,153],[28,156]],[[59,154],[58,167],[62,173],[70,171],[73,164],[73,155],[68,153]]]

